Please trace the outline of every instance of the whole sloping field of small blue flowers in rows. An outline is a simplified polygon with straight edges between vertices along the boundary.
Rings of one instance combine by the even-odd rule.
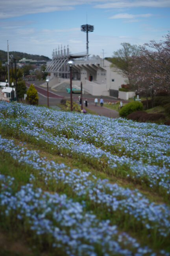
[[[169,126],[0,101],[0,153],[0,231],[31,255],[170,255]]]

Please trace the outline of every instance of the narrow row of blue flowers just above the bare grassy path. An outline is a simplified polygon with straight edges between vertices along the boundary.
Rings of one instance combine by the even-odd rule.
[[[2,121],[1,124],[3,125],[3,127],[5,126],[4,121]],[[48,134],[48,132],[45,132],[43,128],[36,128],[34,124],[31,124],[31,120],[27,126],[19,126],[18,132],[33,136],[38,141],[44,141],[44,143],[46,143],[47,145],[53,145],[53,147],[55,147],[55,150],[58,150],[58,152],[62,155],[64,154],[64,150],[69,150],[70,153],[67,153],[67,155],[72,156],[72,154],[77,154],[79,158],[86,158],[86,160],[90,161],[90,163],[93,163],[95,160],[100,164],[103,164],[103,161],[101,160],[102,158],[105,159],[105,163],[107,163],[107,166],[113,170],[115,170],[116,168],[119,169],[118,166],[121,167],[125,165],[128,169],[128,172],[132,173],[131,175],[127,174],[131,176],[131,178],[140,179],[140,182],[142,182],[141,178],[145,177],[148,180],[148,182],[152,184],[152,186],[156,188],[157,186],[160,186],[163,189],[165,189],[168,193],[170,191],[168,173],[169,168],[167,168],[166,166],[158,167],[155,164],[151,165],[153,161],[150,161],[151,164],[144,164],[141,160],[137,161],[132,160],[131,158],[127,158],[126,156],[118,157],[112,155],[109,152],[105,152],[101,148],[96,148],[92,144],[79,142],[78,140],[74,139],[67,139],[63,137],[61,138],[57,135],[53,136],[52,134]],[[136,144],[134,143],[134,145]],[[153,145],[155,145],[155,143],[153,143]],[[151,144],[150,147],[152,147]],[[146,147],[144,147],[144,151],[146,151]],[[165,157],[167,161],[170,161],[170,157],[163,157]],[[160,159],[163,159],[163,157]],[[159,182],[160,179],[162,180],[162,182]]]

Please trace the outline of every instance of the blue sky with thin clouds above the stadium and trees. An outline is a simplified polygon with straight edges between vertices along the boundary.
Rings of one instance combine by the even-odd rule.
[[[121,43],[159,42],[170,31],[170,0],[0,0],[0,50],[52,58],[64,46],[72,54],[112,57]]]

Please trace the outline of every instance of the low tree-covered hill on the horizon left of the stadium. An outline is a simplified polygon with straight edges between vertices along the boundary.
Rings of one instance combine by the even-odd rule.
[[[45,60],[48,61],[50,58],[43,56],[43,55],[33,55],[33,54],[28,54],[25,52],[9,52],[9,55],[12,54],[16,61],[19,61],[22,58],[26,59],[35,59],[35,60]],[[7,61],[7,52],[0,50],[0,62],[4,63]]]

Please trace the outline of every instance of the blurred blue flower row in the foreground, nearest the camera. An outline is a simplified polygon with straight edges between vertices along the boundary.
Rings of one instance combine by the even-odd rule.
[[[7,182],[6,177],[3,182]],[[13,197],[10,193],[7,197],[5,192],[1,189],[0,202],[3,197],[8,200],[8,210],[4,213],[9,215],[13,212],[13,216],[16,215],[22,223],[27,218],[30,230],[37,236],[44,234],[44,239],[49,234],[52,246],[61,248],[68,255],[97,255],[96,245],[101,247],[103,255],[131,255],[131,249],[135,251],[140,246],[128,234],[118,233],[116,226],[110,226],[109,221],[100,222],[96,215],[84,213],[81,204],[68,200],[66,195],[43,193],[41,189],[33,189],[31,184],[22,186]],[[23,195],[27,195],[30,200],[25,200]],[[144,253],[152,252],[146,248],[143,248]]]

